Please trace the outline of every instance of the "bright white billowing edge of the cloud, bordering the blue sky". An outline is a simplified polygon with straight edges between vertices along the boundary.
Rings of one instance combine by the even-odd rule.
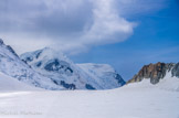
[[[134,23],[118,15],[114,0],[91,0],[91,2],[92,23],[87,23],[76,37],[59,42],[63,43],[63,46],[59,47],[61,51],[76,54],[94,45],[122,42],[133,34]]]

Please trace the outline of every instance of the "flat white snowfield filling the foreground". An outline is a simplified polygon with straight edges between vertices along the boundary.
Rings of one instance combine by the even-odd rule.
[[[0,118],[179,118],[179,92],[162,89],[164,83],[155,86],[146,79],[110,90],[0,93]]]

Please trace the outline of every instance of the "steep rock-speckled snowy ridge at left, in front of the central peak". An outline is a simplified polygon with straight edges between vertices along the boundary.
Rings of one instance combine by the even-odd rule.
[[[0,40],[0,72],[32,86],[46,89],[64,89],[64,87],[57,86],[50,78],[33,71],[2,40]]]

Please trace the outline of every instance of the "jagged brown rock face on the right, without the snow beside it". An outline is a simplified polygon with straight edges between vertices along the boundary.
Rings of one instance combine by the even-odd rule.
[[[157,64],[149,64],[145,65],[137,75],[135,75],[128,83],[140,82],[144,78],[149,78],[151,84],[159,83],[166,76],[167,71],[171,71],[175,66],[173,63],[157,63]],[[177,74],[176,72],[173,72]]]

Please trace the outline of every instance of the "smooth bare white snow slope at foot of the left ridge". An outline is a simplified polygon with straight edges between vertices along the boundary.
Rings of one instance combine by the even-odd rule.
[[[17,78],[0,73],[0,92],[12,92],[12,90],[40,90],[40,88],[27,85]]]

